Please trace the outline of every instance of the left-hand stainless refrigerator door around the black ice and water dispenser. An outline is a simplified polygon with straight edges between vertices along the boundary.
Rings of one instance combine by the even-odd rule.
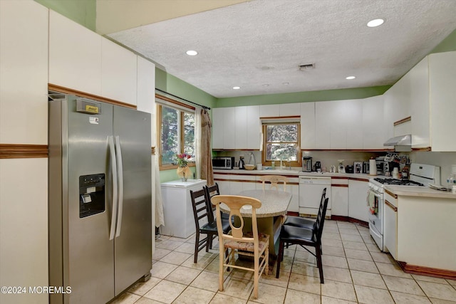
[[[66,147],[63,142],[63,162],[68,166],[68,194],[63,194],[63,208],[68,208],[68,218],[63,216],[63,236],[66,242],[63,250],[68,248],[67,253],[63,252],[63,263],[68,266],[68,281],[65,285],[71,286],[72,292],[68,295],[71,303],[105,303],[115,295],[114,241],[109,240],[112,179],[107,171],[108,135],[113,134],[113,106],[103,104],[100,115],[89,115],[76,112],[76,100],[69,100],[67,105]],[[66,104],[63,104],[65,107]],[[64,121],[63,125],[66,125]],[[81,175],[102,173],[106,177],[105,211],[81,219],[78,179]],[[65,210],[63,214],[66,214]]]

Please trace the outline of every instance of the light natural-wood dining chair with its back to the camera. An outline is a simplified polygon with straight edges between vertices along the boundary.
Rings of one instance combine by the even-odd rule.
[[[261,201],[247,196],[217,195],[212,196],[212,204],[216,206],[217,214],[220,212],[220,204],[229,207],[229,219],[237,217],[236,225],[228,221],[231,232],[225,234],[222,230],[222,219],[217,217],[217,228],[219,230],[219,290],[223,291],[224,272],[227,268],[238,268],[254,272],[254,298],[258,298],[258,282],[261,274],[269,269],[269,235],[258,232],[257,209],[261,207]],[[244,207],[245,206],[245,207]],[[244,233],[244,219],[240,209],[252,209],[252,232]],[[239,226],[237,226],[239,222]],[[248,229],[248,227],[247,227]],[[228,251],[226,258],[224,252]],[[254,257],[254,268],[247,268],[235,264],[234,253],[241,253],[243,256]]]

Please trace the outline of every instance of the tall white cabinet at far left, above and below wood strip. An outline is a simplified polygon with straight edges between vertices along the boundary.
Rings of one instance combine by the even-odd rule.
[[[47,145],[48,9],[0,1],[0,144]],[[48,159],[0,159],[0,285],[48,285]],[[0,303],[48,295],[0,293]]]

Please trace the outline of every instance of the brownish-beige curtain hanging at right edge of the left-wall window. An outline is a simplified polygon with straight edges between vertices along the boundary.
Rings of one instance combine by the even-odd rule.
[[[214,184],[211,150],[212,123],[209,113],[201,109],[201,179],[207,180],[207,186]]]

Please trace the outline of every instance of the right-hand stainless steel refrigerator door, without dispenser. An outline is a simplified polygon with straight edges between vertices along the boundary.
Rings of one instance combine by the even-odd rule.
[[[121,150],[123,208],[115,241],[115,294],[152,268],[152,169],[150,114],[114,107],[113,135]],[[119,152],[119,151],[117,151]],[[118,236],[117,236],[118,235]]]

